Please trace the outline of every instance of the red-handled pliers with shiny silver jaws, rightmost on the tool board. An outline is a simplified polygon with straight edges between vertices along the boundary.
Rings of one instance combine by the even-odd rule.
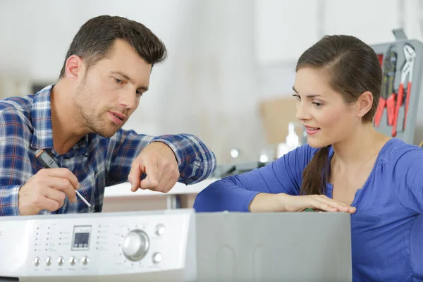
[[[412,68],[414,68],[414,61],[416,57],[415,50],[409,44],[404,44],[403,51],[404,51],[405,63],[403,68],[401,68],[401,82],[400,82],[400,88],[398,89],[398,97],[396,100],[396,109],[395,109],[395,115],[394,115],[395,117],[393,120],[393,127],[392,127],[392,137],[396,137],[398,114],[400,111],[400,106],[401,104],[403,104],[404,83],[405,83],[405,78],[407,78],[408,76],[407,97],[405,99],[405,114],[404,114],[404,124],[403,124],[403,129],[405,129],[405,121],[407,120],[408,103],[410,102]]]

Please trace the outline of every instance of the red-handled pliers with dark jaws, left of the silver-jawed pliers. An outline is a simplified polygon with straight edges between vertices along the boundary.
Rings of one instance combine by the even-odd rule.
[[[395,92],[393,89],[393,83],[395,80],[396,61],[396,51],[393,51],[393,47],[390,47],[383,64],[384,80],[382,84],[382,92],[376,109],[376,115],[374,116],[374,125],[376,126],[379,126],[379,123],[381,122],[385,106],[388,114],[388,125],[393,125],[393,118],[395,114]]]

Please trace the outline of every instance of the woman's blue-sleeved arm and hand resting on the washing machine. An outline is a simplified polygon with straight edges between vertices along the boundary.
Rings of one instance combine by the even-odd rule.
[[[197,195],[194,208],[197,212],[301,212],[312,208],[354,213],[355,207],[325,195],[300,196],[302,171],[314,152],[305,145],[267,166],[218,180]]]

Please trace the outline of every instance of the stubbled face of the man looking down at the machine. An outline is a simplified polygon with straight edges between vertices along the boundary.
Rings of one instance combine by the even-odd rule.
[[[75,90],[74,103],[87,130],[113,136],[148,90],[151,70],[130,44],[117,39],[108,58],[81,73]]]

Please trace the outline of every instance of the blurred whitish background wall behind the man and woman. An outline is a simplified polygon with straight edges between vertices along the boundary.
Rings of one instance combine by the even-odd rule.
[[[423,40],[419,0],[0,0],[0,95],[54,83],[80,25],[101,14],[144,23],[168,48],[125,128],[198,135],[219,163],[233,161],[231,148],[251,161],[283,141],[266,123],[285,133],[295,116],[266,120],[266,103],[292,102],[295,62],[323,35],[376,44],[403,27]]]

